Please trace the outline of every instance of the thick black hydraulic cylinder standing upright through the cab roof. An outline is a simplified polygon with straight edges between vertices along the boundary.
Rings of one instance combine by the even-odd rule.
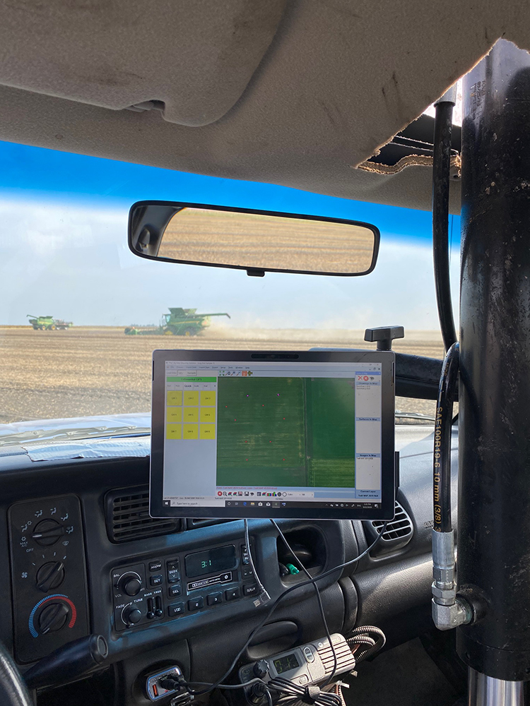
[[[530,54],[464,78],[457,628],[482,674],[530,680]]]

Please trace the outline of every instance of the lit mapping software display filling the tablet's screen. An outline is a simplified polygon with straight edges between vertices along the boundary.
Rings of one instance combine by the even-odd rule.
[[[381,364],[166,361],[165,397],[165,505],[381,500]]]

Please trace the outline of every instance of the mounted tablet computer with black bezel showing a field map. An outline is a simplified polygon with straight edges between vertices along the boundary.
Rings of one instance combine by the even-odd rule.
[[[153,352],[153,517],[394,517],[394,353]]]

